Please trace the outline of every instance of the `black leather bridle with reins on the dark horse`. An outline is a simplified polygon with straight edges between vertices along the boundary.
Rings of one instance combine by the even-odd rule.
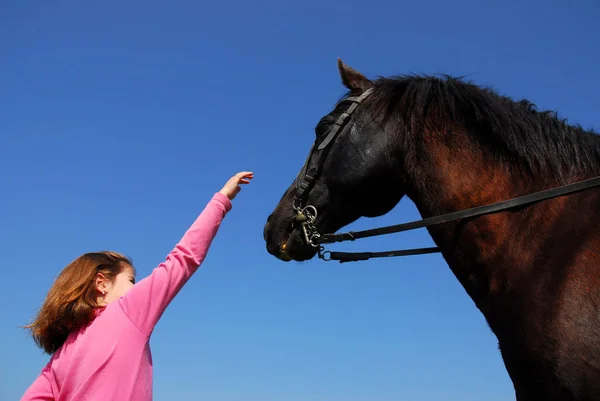
[[[518,206],[530,205],[540,202],[545,199],[555,198],[566,194],[579,192],[588,188],[600,185],[600,176],[590,179],[578,181],[575,183],[563,185],[556,188],[547,189],[544,191],[534,192],[529,195],[519,196],[513,199],[492,203],[485,206],[478,206],[471,209],[460,210],[442,214],[439,216],[429,217],[422,220],[415,220],[408,223],[396,224],[380,228],[374,228],[363,231],[349,231],[340,234],[321,234],[315,226],[317,219],[317,209],[312,205],[304,206],[306,195],[312,188],[314,180],[319,176],[323,163],[329,153],[330,145],[333,144],[336,137],[343,131],[344,127],[350,121],[352,113],[369,95],[373,93],[373,88],[367,89],[360,96],[348,97],[341,102],[352,102],[348,110],[342,113],[336,120],[330,130],[327,132],[325,139],[316,146],[313,144],[309,156],[300,171],[296,183],[296,194],[293,200],[293,208],[296,212],[294,224],[300,224],[304,241],[307,245],[318,248],[320,259],[325,261],[337,260],[340,263],[354,262],[359,260],[368,260],[371,258],[391,257],[391,256],[409,256],[422,255],[441,252],[439,247],[415,248],[415,249],[400,249],[394,251],[383,252],[333,252],[325,251],[322,244],[332,244],[335,242],[354,241],[358,238],[373,237],[376,235],[386,235],[402,231],[415,230],[417,228],[430,227],[437,224],[467,219],[471,217],[483,216],[490,213],[497,213],[503,210],[514,209]],[[316,148],[315,148],[316,146]]]

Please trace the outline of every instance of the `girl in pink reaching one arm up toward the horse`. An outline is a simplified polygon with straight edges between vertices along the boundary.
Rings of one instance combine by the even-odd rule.
[[[131,261],[115,252],[87,253],[65,267],[27,326],[52,357],[21,401],[151,400],[152,330],[204,260],[239,185],[253,177],[241,172],[227,181],[137,284]]]

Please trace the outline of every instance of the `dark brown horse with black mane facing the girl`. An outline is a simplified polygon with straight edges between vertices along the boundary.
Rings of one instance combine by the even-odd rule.
[[[455,214],[421,226],[496,336],[516,400],[600,400],[597,183],[457,215],[597,180],[598,133],[464,77],[338,69],[347,92],[267,217],[267,252],[322,257],[337,235],[323,233],[405,196],[423,221]]]

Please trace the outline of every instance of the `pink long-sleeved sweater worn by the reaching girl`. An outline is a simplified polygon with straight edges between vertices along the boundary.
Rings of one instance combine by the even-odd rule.
[[[152,399],[149,338],[163,312],[198,269],[231,202],[216,193],[166,260],[118,301],[73,332],[21,401]]]

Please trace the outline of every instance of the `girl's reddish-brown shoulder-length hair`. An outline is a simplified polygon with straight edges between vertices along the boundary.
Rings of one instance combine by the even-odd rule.
[[[27,326],[36,344],[53,354],[69,333],[90,323],[98,304],[96,276],[102,273],[113,281],[131,260],[116,252],[92,252],[81,255],[65,267],[48,291],[33,322]]]

